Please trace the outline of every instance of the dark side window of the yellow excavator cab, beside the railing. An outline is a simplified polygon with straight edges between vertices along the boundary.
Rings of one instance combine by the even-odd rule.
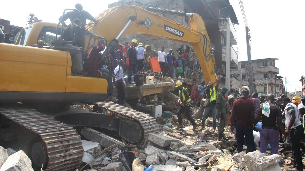
[[[57,33],[60,35],[60,28],[57,28]],[[54,46],[55,44],[55,35],[56,35],[56,27],[52,26],[43,26],[37,40],[43,40],[46,44]],[[57,37],[59,36],[57,35]]]

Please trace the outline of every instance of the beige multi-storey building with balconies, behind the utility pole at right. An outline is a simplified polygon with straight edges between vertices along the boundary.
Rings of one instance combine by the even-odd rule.
[[[279,68],[275,67],[277,58],[264,58],[252,60],[253,75],[256,92],[267,95],[276,93],[279,97],[284,93],[284,84],[279,74]],[[248,61],[240,61],[239,68],[232,69],[231,73],[241,80],[241,85],[249,85]]]

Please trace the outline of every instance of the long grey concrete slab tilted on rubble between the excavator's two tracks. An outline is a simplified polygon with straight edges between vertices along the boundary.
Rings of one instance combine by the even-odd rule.
[[[82,128],[81,134],[88,140],[98,142],[101,146],[105,148],[113,144],[119,144],[118,147],[120,148],[120,150],[124,150],[125,144],[122,141],[116,140],[92,128]]]

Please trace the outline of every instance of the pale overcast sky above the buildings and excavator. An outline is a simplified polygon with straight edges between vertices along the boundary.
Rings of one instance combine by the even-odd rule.
[[[52,3],[50,3],[52,2]],[[81,3],[84,10],[92,16],[99,15],[108,8],[108,4],[117,0],[107,1],[74,1],[52,0],[50,2],[31,0],[14,1],[14,8],[2,8],[0,18],[10,20],[12,25],[25,26],[30,12],[34,12],[38,19],[45,22],[58,23],[66,8],[74,9],[76,3]],[[239,25],[235,25],[237,46],[239,47],[239,61],[247,60],[245,24],[238,0],[230,0],[235,10]],[[11,1],[1,2],[2,7],[9,7]],[[252,59],[278,58],[275,66],[279,68],[279,75],[287,78],[287,91],[301,91],[299,79],[305,73],[302,58],[304,36],[303,28],[304,0],[256,0],[243,1],[248,27],[251,33]]]

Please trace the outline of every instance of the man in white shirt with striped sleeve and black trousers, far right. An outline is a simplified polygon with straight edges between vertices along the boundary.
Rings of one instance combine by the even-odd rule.
[[[285,107],[285,125],[286,136],[291,143],[293,151],[293,167],[292,170],[303,170],[302,154],[300,150],[301,137],[304,134],[303,125],[300,121],[300,114],[298,107],[291,103],[288,97],[282,99],[282,104]]]

